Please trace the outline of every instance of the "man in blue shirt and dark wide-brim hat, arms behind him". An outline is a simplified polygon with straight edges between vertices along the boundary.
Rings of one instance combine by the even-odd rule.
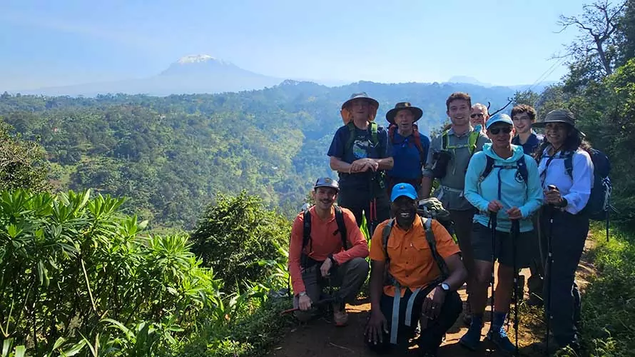
[[[397,183],[410,183],[417,192],[421,188],[422,168],[425,166],[430,138],[420,134],[417,124],[423,111],[410,102],[395,104],[386,114],[388,139],[395,164],[386,172],[388,178],[388,194]]]

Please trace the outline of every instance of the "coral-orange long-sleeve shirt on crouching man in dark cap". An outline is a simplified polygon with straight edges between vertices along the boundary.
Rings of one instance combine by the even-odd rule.
[[[337,231],[337,222],[335,221],[335,208],[331,209],[331,216],[326,220],[322,220],[315,213],[315,206],[309,208],[311,215],[311,240],[305,248],[310,258],[316,261],[324,261],[329,254],[333,255],[337,264],[343,264],[352,258],[366,258],[368,256],[368,243],[365,236],[355,223],[355,216],[347,208],[342,208],[344,223],[347,232],[348,248],[346,251],[342,247],[342,238],[339,233],[333,235]],[[301,293],[305,291],[304,282],[302,281],[302,270],[300,268],[300,256],[302,255],[302,238],[304,233],[304,213],[299,213],[293,221],[291,228],[291,241],[289,243],[289,273],[291,275],[291,285],[293,293]],[[313,251],[308,251],[313,248]]]

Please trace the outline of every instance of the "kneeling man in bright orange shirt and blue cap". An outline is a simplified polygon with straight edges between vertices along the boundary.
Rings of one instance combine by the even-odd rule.
[[[420,356],[436,356],[462,311],[457,288],[467,271],[459,246],[441,223],[417,214],[412,185],[397,183],[390,200],[395,218],[380,223],[370,242],[371,307],[365,340],[375,351],[405,346],[420,323]]]

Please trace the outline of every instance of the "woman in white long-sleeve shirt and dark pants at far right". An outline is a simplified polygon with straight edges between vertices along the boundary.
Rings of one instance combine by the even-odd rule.
[[[593,185],[590,146],[583,139],[584,133],[576,129],[574,114],[566,109],[550,111],[534,127],[544,128],[537,161],[544,191],[540,238],[546,264],[545,313],[547,318],[551,316],[553,333],[549,350],[565,346],[578,349],[580,293],[575,272],[589,233],[589,217],[583,209]]]

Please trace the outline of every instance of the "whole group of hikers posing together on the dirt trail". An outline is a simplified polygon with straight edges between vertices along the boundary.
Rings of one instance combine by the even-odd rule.
[[[345,303],[355,302],[370,271],[365,343],[372,350],[416,338],[421,356],[436,356],[463,312],[469,328],[459,343],[477,351],[492,286],[485,338],[514,353],[517,340],[514,346],[504,325],[512,298],[516,308],[522,298],[519,270],[529,268],[527,303],[544,306],[548,330],[539,348],[578,349],[574,277],[589,231],[584,208],[594,165],[574,114],[556,109],[537,121],[522,104],[511,116],[490,117],[462,92],[446,107],[451,124],[430,141],[417,129],[422,109],[409,102],[387,111],[387,128],[377,124],[379,103],[367,94],[342,104],[344,125],[327,153],[339,178],[317,179],[315,204],[291,231],[295,316],[309,321],[327,306],[335,325],[345,326]],[[448,213],[449,224],[422,210],[425,204]],[[457,293],[464,286],[467,301]],[[514,315],[517,324],[517,309]]]

